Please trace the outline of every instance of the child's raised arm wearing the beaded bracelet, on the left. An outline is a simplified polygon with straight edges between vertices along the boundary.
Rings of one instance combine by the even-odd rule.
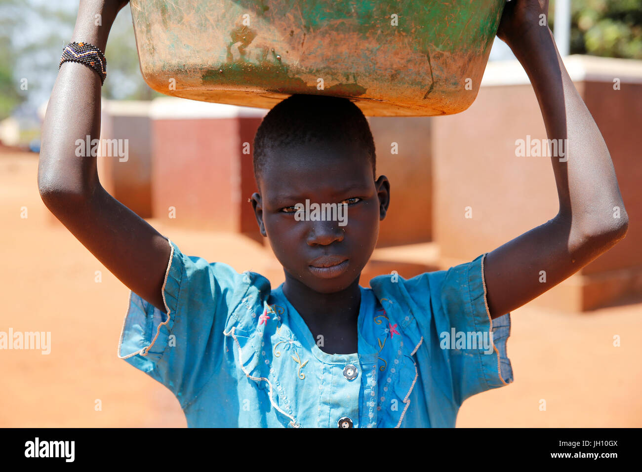
[[[88,42],[104,53],[112,23],[126,3],[82,0],[71,41]],[[95,25],[96,15],[101,15],[102,26]],[[100,78],[89,67],[74,62],[60,67],[42,127],[40,196],[117,279],[166,311],[161,290],[171,252],[168,241],[105,191],[91,152],[76,156],[76,139],[100,138],[100,89]]]

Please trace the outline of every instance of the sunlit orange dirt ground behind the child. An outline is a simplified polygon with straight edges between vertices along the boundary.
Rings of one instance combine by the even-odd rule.
[[[0,351],[0,426],[186,426],[169,390],[117,358],[128,289],[51,222],[37,165],[34,153],[0,153],[0,331],[51,331],[51,354]],[[185,254],[274,273],[272,253],[254,241],[149,222]],[[281,281],[282,274],[272,280]],[[640,315],[642,304],[582,315],[514,311],[508,355],[515,381],[468,399],[457,426],[642,426]]]

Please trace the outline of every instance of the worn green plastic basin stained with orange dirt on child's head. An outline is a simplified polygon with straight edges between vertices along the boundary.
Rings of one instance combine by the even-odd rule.
[[[322,94],[367,116],[434,116],[473,103],[505,0],[130,4],[143,78],[163,94],[261,108]]]

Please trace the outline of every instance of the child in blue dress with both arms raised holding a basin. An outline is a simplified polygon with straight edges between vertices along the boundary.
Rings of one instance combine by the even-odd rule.
[[[81,2],[74,40],[103,51],[122,6]],[[94,26],[97,12],[107,26]],[[256,134],[252,206],[286,277],[272,288],[260,274],[186,256],[108,195],[95,157],[74,156],[76,139],[100,134],[101,70],[64,62],[43,128],[39,189],[132,290],[119,357],[166,385],[188,426],[453,427],[465,399],[512,381],[510,311],[628,227],[602,135],[540,26],[547,12],[546,1],[512,1],[498,36],[525,67],[550,139],[568,138],[568,159],[551,159],[559,213],[469,263],[408,280],[381,275],[367,289],[359,278],[390,184],[376,177],[372,135],[351,101],[291,96]],[[346,224],[299,218],[306,200],[345,205]]]

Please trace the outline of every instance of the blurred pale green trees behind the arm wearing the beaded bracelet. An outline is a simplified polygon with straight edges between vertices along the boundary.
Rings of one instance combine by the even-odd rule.
[[[33,108],[47,99],[62,48],[71,40],[77,10],[77,2],[0,0],[0,119],[28,99]],[[143,80],[129,6],[112,25],[105,56],[104,98],[151,100],[160,96]],[[28,91],[21,90],[23,77],[28,78]]]

